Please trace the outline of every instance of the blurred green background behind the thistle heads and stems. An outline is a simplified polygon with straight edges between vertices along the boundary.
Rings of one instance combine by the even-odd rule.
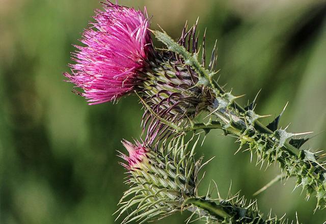
[[[319,133],[304,147],[326,146],[326,3],[324,1],[120,1],[147,6],[152,29],[160,24],[172,37],[185,20],[207,27],[208,49],[218,38],[220,83],[235,95],[253,99],[262,89],[259,114],[277,116],[290,131]],[[89,106],[63,81],[72,44],[86,27],[97,1],[0,1],[0,223],[113,223],[112,213],[127,186],[118,164],[120,140],[140,135],[137,97],[118,104]],[[158,44],[159,46],[159,44]],[[267,124],[272,118],[265,119]],[[250,163],[249,153],[233,155],[235,139],[211,132],[197,155],[216,156],[201,186],[214,179],[223,195],[230,181],[247,198],[273,179]],[[278,183],[258,195],[270,208],[303,223],[322,223],[315,198],[292,192],[294,180]],[[158,223],[180,223],[188,213]]]

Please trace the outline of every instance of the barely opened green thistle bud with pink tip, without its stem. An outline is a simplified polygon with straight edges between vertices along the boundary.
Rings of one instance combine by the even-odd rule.
[[[151,149],[145,144],[123,141],[129,156],[123,164],[130,176],[127,190],[120,204],[119,216],[133,209],[122,223],[132,220],[150,220],[182,210],[186,198],[195,197],[198,186],[200,161],[195,161],[194,151],[178,137],[167,148]]]

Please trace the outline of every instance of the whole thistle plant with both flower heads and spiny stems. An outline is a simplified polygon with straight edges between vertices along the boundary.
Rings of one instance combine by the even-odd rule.
[[[324,155],[301,149],[308,138],[296,136],[308,132],[295,134],[278,128],[282,114],[264,126],[258,120],[266,116],[254,110],[256,99],[242,108],[235,102],[241,96],[226,92],[214,80],[216,45],[206,65],[205,34],[199,49],[198,21],[190,29],[185,25],[180,39],[174,41],[164,31],[149,30],[146,9],[143,13],[106,2],[103,11],[95,14],[95,21],[83,33],[84,46],[76,46],[72,54],[71,74],[64,75],[89,104],[135,93],[144,105],[144,141],[122,141],[129,153],[120,153],[120,157],[126,161],[122,165],[130,186],[117,211],[118,217],[129,211],[122,223],[145,222],[184,210],[207,223],[287,222],[271,215],[265,218],[256,201],[247,204],[239,194],[227,199],[219,193],[218,199],[211,199],[208,193],[198,195],[199,173],[207,162],[195,159],[199,137],[185,139],[188,132],[200,129],[208,134],[217,128],[236,136],[238,151],[247,145],[244,151],[256,153],[261,166],[279,162],[287,178],[296,177],[297,186],[307,189],[307,198],[316,195],[316,209],[326,207]],[[151,33],[167,49],[155,49]],[[200,120],[199,114],[207,116]]]

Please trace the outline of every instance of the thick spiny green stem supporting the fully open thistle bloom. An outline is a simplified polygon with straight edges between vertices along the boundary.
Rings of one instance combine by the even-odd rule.
[[[214,72],[205,69],[197,60],[197,53],[188,52],[183,46],[176,43],[165,32],[153,31],[158,40],[164,43],[168,50],[181,55],[185,64],[191,66],[199,75],[196,86],[206,87],[215,95],[214,102],[208,106],[210,115],[215,115],[221,123],[192,124],[184,131],[194,129],[204,129],[207,133],[209,129],[220,128],[225,134],[235,134],[243,144],[249,145],[251,153],[257,153],[257,164],[263,165],[267,160],[267,166],[271,162],[279,161],[281,169],[286,171],[287,177],[295,175],[297,185],[307,188],[307,198],[311,192],[315,192],[317,197],[317,207],[322,204],[326,207],[326,169],[322,163],[318,162],[316,153],[307,150],[300,150],[300,146],[305,139],[293,139],[298,134],[287,132],[285,129],[278,129],[279,117],[268,126],[261,124],[259,116],[254,111],[254,103],[242,108],[235,102],[239,98],[231,93],[226,93],[216,81],[212,79]],[[180,129],[176,129],[180,131]],[[310,133],[310,132],[307,132]],[[303,133],[303,134],[307,134]],[[290,139],[290,142],[288,141]],[[301,141],[298,143],[298,141]]]

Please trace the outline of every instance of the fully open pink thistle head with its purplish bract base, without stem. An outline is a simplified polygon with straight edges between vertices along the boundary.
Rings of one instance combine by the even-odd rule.
[[[200,80],[191,66],[184,66],[172,51],[154,50],[150,21],[143,12],[110,2],[103,8],[95,12],[95,22],[83,33],[81,41],[86,46],[75,46],[71,74],[64,73],[76,85],[75,93],[89,104],[98,104],[136,92],[151,111],[179,126],[212,103],[209,89],[196,86]],[[184,29],[179,43],[196,53],[198,38],[190,42],[195,35],[196,26]],[[144,131],[148,127],[146,142],[153,143],[171,132],[150,110],[144,114],[143,126]]]

